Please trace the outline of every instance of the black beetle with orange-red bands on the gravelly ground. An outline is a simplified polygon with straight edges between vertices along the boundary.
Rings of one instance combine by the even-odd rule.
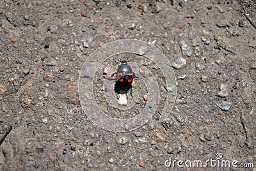
[[[132,80],[135,77],[135,73],[132,71],[131,66],[127,64],[127,61],[122,60],[122,64],[120,64],[117,68],[117,72],[113,73],[111,77],[115,78],[115,93],[117,94],[127,94],[131,89],[132,96]]]

